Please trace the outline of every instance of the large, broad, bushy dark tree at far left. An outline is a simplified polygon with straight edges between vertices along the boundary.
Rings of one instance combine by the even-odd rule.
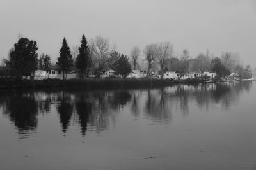
[[[38,50],[36,41],[28,38],[20,38],[14,45],[14,50],[10,53],[10,58],[6,60],[12,76],[31,76],[36,70],[38,62]]]

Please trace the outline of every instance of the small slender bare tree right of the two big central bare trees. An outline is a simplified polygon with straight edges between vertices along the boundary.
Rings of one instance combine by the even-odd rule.
[[[187,49],[183,50],[182,55],[180,56],[180,64],[179,64],[179,79],[187,73],[189,68],[189,51]]]

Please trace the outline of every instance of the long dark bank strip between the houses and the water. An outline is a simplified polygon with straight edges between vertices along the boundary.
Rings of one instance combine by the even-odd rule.
[[[190,80],[168,80],[156,78],[125,78],[125,79],[46,79],[46,80],[26,80],[15,78],[0,78],[0,89],[41,89],[41,88],[83,88],[83,89],[133,89],[166,87],[176,84],[200,84],[200,83],[221,83],[235,81],[255,81],[253,79],[243,80],[212,80],[202,79]]]

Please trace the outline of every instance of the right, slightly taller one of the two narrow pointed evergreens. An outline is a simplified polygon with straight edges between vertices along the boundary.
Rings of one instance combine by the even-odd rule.
[[[87,40],[83,34],[81,39],[81,46],[78,48],[79,54],[77,56],[77,68],[81,69],[81,78],[86,74],[89,62],[89,46],[87,45]]]

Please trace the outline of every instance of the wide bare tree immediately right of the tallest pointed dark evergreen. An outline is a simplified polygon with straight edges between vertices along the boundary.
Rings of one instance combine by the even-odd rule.
[[[109,39],[103,36],[96,36],[91,39],[92,48],[92,67],[95,71],[95,78],[100,78],[104,69],[109,69],[118,60],[117,55],[111,55],[115,52],[115,47],[111,46]]]

